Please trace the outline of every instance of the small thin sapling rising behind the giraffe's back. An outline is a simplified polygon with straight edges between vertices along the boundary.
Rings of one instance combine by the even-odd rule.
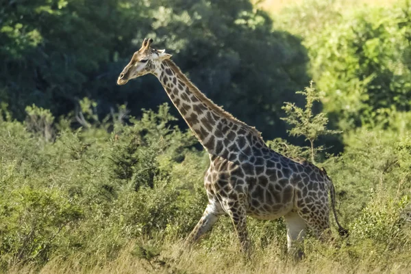
[[[314,163],[316,152],[324,150],[323,146],[314,148],[314,141],[322,135],[334,135],[340,133],[340,131],[327,129],[328,118],[325,113],[321,112],[314,115],[312,111],[314,102],[319,102],[323,95],[315,89],[313,81],[310,81],[310,87],[306,87],[303,92],[296,93],[306,96],[305,109],[297,107],[292,102],[286,102],[282,109],[286,112],[287,117],[281,119],[292,126],[287,131],[291,136],[303,136],[306,137],[306,141],[310,142],[310,156],[312,163]]]

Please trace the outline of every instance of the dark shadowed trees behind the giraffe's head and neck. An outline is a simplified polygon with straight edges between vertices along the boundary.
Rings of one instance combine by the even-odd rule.
[[[174,54],[210,98],[268,137],[272,124],[284,128],[282,102],[308,80],[300,40],[273,31],[271,18],[249,0],[7,2],[0,8],[0,100],[18,120],[32,104],[66,115],[84,96],[99,102],[93,118],[125,102],[140,116],[168,100],[150,77],[116,86],[146,36]]]

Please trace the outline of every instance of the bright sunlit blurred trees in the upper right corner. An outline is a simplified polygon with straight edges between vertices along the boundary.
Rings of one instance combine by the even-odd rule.
[[[410,6],[354,10],[309,1],[282,18],[284,28],[304,36],[314,81],[340,128],[391,126],[388,117],[410,110]],[[303,20],[290,20],[299,14]]]

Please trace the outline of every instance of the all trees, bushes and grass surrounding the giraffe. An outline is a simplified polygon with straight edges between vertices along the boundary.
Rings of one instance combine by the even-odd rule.
[[[308,1],[274,20],[234,0],[6,2],[0,272],[410,272],[409,1]],[[153,77],[114,86],[146,35],[271,148],[325,167],[350,236],[309,236],[295,264],[282,220],[249,218],[247,260],[222,218],[184,248],[208,155]]]

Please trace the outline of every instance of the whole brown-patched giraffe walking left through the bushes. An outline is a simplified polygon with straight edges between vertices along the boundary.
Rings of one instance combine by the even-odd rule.
[[[247,215],[264,220],[284,217],[288,251],[295,251],[293,247],[303,241],[307,226],[319,238],[330,234],[328,191],[338,231],[346,234],[337,219],[334,185],[325,169],[268,148],[256,128],[215,105],[171,61],[170,54],[152,49],[152,42],[147,38],[142,42],[117,84],[154,74],[210,154],[204,178],[208,205],[188,243],[210,230],[221,215],[229,215],[242,251],[249,251]]]

